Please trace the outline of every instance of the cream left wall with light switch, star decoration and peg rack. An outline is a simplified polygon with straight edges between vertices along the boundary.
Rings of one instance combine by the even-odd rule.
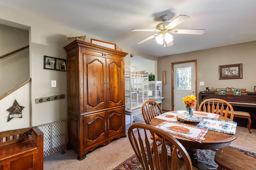
[[[24,12],[0,6],[0,23],[4,22],[4,24],[7,25],[6,21],[14,22],[15,25],[20,27],[30,27],[29,51],[30,77],[32,78],[32,81],[30,86],[28,85],[27,87],[26,85],[24,88],[30,87],[31,90],[17,90],[15,92],[19,97],[17,98],[17,101],[25,107],[22,114],[30,115],[30,123],[24,124],[23,118],[14,118],[8,123],[6,122],[7,115],[5,110],[8,109],[14,101],[14,97],[11,94],[3,100],[0,100],[0,131],[18,129],[25,126],[42,125],[67,119],[67,98],[40,104],[35,103],[35,99],[41,98],[42,96],[47,97],[56,94],[65,94],[65,96],[67,96],[67,72],[43,69],[44,55],[66,59],[66,51],[63,47],[68,44],[67,37],[69,36],[77,37],[86,35],[86,41],[88,42],[90,42],[91,38],[102,41],[108,40],[100,39],[89,33],[77,31],[41,18],[36,18]],[[139,53],[141,56],[148,56],[144,53],[122,47],[122,45],[118,45],[118,47],[128,53]],[[130,58],[129,54],[127,56]],[[153,56],[149,57],[154,58]],[[125,64],[129,63],[127,62]],[[51,88],[51,80],[57,80],[56,88]]]

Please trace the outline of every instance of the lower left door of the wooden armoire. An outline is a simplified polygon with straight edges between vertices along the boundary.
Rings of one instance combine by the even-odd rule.
[[[85,147],[106,139],[106,112],[84,116]]]

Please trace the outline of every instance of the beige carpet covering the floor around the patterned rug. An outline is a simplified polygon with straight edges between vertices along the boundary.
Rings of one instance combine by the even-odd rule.
[[[135,121],[141,123],[140,119]],[[130,127],[130,124],[126,127]],[[252,133],[248,133],[247,128],[237,127],[237,131],[238,138],[230,146],[256,153],[256,129],[251,129]],[[74,150],[65,151],[64,154],[57,152],[44,158],[44,170],[112,170],[134,154],[128,137],[112,141],[86,154],[84,160],[77,160],[78,155]]]

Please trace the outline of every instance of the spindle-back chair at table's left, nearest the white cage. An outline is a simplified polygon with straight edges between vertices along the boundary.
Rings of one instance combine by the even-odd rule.
[[[154,100],[148,100],[142,105],[142,115],[145,120],[145,123],[150,125],[150,121],[158,116],[163,114],[163,111],[159,104]]]

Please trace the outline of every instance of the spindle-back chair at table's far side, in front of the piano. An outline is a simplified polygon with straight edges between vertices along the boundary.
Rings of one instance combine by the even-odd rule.
[[[234,109],[229,102],[222,99],[206,99],[198,107],[198,111],[205,111],[209,113],[219,114],[224,117],[228,117],[233,120],[234,118]]]

